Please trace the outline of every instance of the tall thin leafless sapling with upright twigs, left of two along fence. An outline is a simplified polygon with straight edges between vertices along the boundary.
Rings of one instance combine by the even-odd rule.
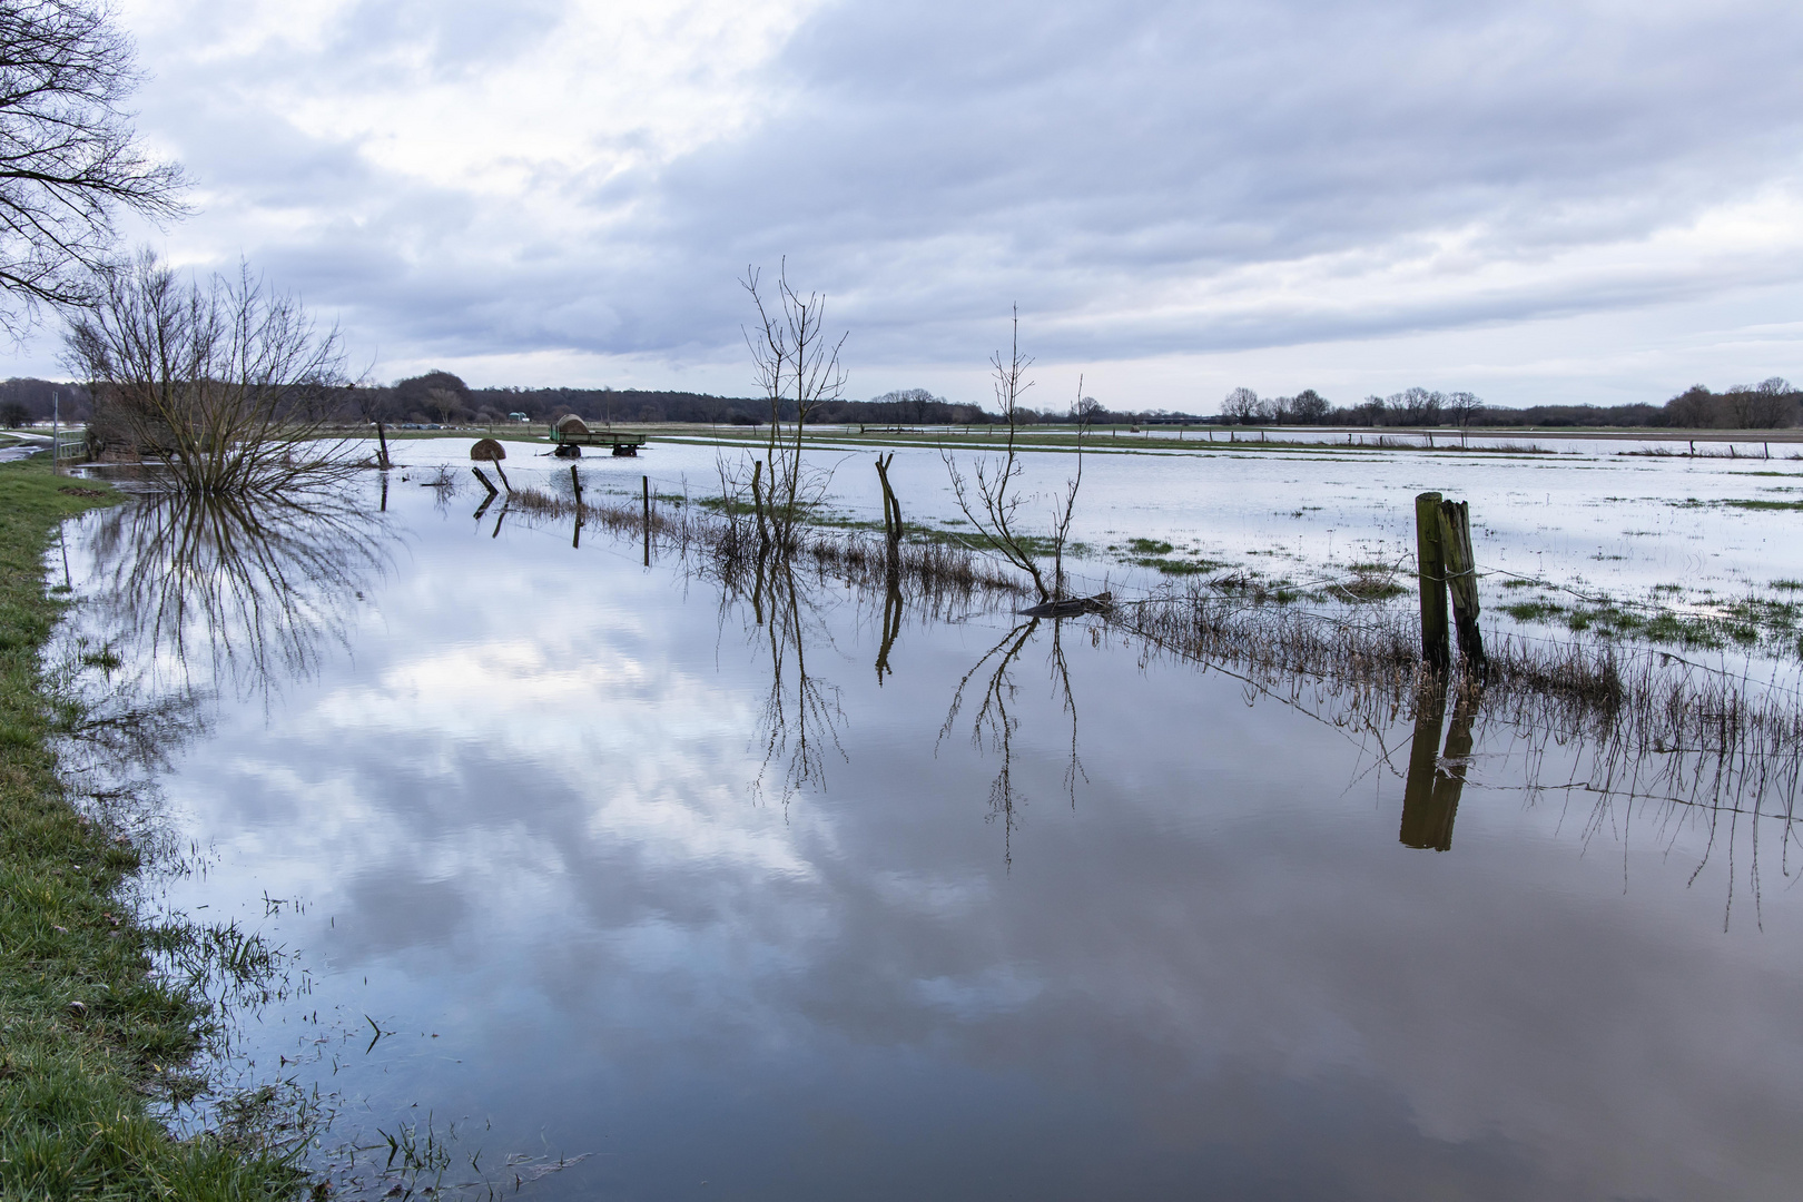
[[[829,474],[802,467],[802,433],[808,414],[820,404],[838,400],[846,387],[846,369],[838,360],[846,333],[837,339],[826,330],[826,296],[802,296],[788,281],[788,260],[777,270],[777,294],[759,288],[757,269],[746,267],[739,281],[752,294],[757,326],[745,328],[757,386],[770,400],[770,434],[763,469],[754,469],[752,503],[759,530],[768,523],[777,544],[786,544],[802,514],[826,492]],[[783,409],[795,405],[792,434],[783,433]],[[764,478],[768,472],[768,478]]]

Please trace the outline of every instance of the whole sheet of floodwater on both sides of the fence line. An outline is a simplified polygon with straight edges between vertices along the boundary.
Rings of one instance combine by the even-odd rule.
[[[467,447],[52,551],[65,771],[213,948],[177,1125],[332,1197],[1794,1195],[1796,465],[1096,447],[1116,606],[1033,620],[934,447],[892,578],[860,447],[790,557],[707,533],[719,447],[581,521]],[[1484,688],[1406,663],[1423,488]]]

